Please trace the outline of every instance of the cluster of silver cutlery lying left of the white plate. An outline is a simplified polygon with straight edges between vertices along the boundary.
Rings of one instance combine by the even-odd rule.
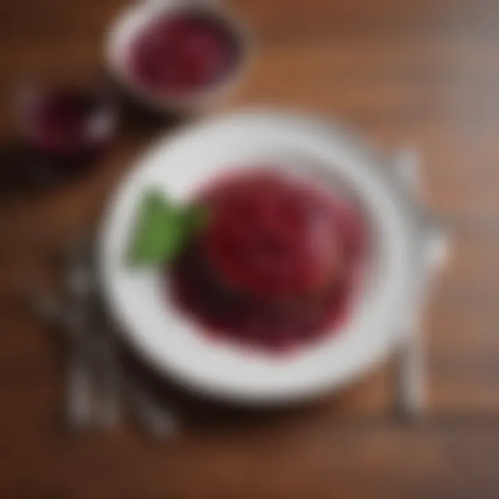
[[[65,271],[64,297],[40,293],[31,305],[37,315],[64,331],[67,423],[73,428],[112,428],[119,421],[125,395],[132,417],[149,435],[175,435],[178,423],[173,413],[134,373],[123,379],[116,336],[103,314],[88,243],[71,253]]]

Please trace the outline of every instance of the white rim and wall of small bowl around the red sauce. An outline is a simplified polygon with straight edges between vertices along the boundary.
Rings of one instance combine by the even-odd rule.
[[[238,44],[238,56],[234,67],[219,82],[205,89],[182,95],[158,94],[134,78],[128,56],[130,44],[138,33],[159,15],[175,12],[207,12],[219,17]],[[249,64],[250,43],[247,30],[227,8],[211,1],[158,0],[135,3],[121,12],[112,22],[105,42],[105,60],[110,74],[130,96],[143,105],[159,112],[198,112],[217,103],[234,90],[243,78]]]

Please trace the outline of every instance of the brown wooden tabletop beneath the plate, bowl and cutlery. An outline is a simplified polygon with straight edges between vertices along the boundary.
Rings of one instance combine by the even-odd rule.
[[[121,0],[3,0],[0,126],[19,80],[90,80]],[[133,154],[161,128],[124,125],[91,177],[0,202],[0,497],[499,497],[499,3],[495,0],[234,0],[259,54],[227,107],[315,110],[386,150],[423,152],[428,203],[455,227],[428,304],[428,416],[392,417],[388,362],[338,396],[272,417],[187,424],[171,444],[124,423],[54,431],[62,375],[15,290],[48,246],[90,227]]]

